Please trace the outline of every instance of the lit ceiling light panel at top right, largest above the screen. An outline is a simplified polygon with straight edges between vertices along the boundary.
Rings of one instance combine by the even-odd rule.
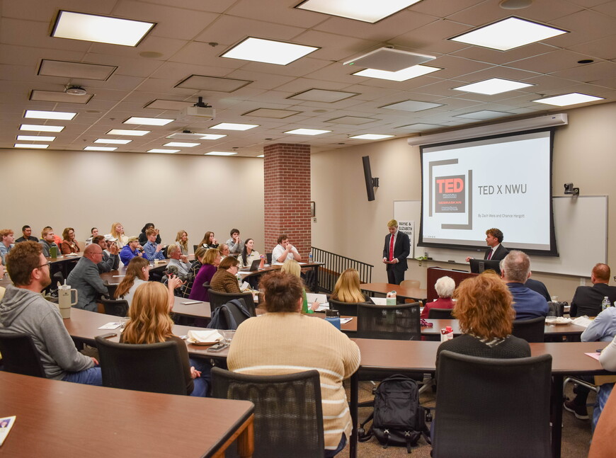
[[[567,31],[512,16],[450,38],[450,40],[489,47],[493,50],[508,51],[563,33]]]

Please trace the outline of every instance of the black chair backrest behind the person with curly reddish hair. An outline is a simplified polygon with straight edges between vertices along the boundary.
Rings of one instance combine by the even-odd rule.
[[[552,355],[503,360],[443,350],[436,371],[435,458],[550,456]]]

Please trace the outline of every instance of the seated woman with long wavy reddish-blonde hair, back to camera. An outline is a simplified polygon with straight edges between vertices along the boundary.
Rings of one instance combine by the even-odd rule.
[[[158,282],[146,282],[139,285],[128,311],[129,320],[120,342],[122,343],[159,343],[173,340],[178,345],[180,359],[186,380],[186,392],[191,396],[205,396],[207,381],[201,372],[195,370],[195,364],[188,358],[186,343],[173,335],[173,321],[169,311],[173,305],[173,289]],[[202,363],[203,364],[203,363]]]

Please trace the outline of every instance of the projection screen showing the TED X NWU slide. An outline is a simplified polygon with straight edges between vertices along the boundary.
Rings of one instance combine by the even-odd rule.
[[[420,246],[503,245],[556,254],[552,217],[552,132],[507,134],[421,148]]]

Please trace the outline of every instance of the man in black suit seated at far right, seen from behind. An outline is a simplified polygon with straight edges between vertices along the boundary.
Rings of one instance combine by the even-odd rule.
[[[605,296],[614,304],[616,287],[608,286],[610,275],[610,266],[607,264],[599,263],[593,267],[593,286],[578,286],[574,298],[571,299],[571,316],[597,316],[601,312],[601,302]]]

